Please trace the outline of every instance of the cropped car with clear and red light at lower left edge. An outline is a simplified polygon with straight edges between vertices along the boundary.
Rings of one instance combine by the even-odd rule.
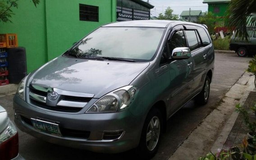
[[[0,106],[0,160],[24,160],[18,154],[18,131]]]

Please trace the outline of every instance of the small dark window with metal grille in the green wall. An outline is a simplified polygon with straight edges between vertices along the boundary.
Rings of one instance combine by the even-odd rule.
[[[99,7],[79,4],[79,19],[80,21],[99,22]]]

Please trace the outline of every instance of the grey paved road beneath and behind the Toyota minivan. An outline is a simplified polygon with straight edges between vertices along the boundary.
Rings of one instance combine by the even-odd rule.
[[[215,72],[208,104],[196,106],[191,101],[169,119],[167,132],[163,134],[159,151],[153,160],[166,160],[174,153],[179,144],[183,143],[192,130],[215,108],[219,100],[240,78],[247,69],[250,59],[251,57],[242,58],[235,54],[215,54]],[[0,105],[7,110],[13,120],[12,98],[13,95],[0,98]],[[134,158],[131,151],[108,155],[62,147],[41,141],[20,130],[19,152],[27,160],[128,160]]]

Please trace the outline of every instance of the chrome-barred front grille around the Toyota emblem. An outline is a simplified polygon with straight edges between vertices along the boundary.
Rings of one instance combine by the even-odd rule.
[[[47,99],[48,93],[52,91],[58,93],[56,100]],[[93,96],[87,93],[64,91],[35,85],[30,85],[29,87],[29,100],[31,104],[59,112],[79,112]]]

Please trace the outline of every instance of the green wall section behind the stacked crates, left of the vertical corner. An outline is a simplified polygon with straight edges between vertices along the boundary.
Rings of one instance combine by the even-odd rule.
[[[0,24],[0,33],[17,33],[18,45],[27,52],[27,69],[31,72],[47,61],[46,16],[44,2],[34,6],[29,0],[18,1],[18,9],[12,9],[12,23]]]

